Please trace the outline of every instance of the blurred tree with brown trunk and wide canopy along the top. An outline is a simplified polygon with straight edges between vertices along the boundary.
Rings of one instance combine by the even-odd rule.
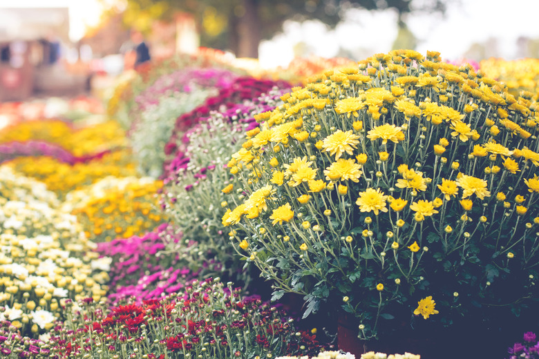
[[[124,0],[126,21],[146,26],[149,19],[173,11],[193,14],[202,46],[229,49],[238,57],[258,57],[258,44],[271,38],[286,20],[319,19],[335,26],[352,8],[402,14],[416,10],[444,12],[448,0]],[[137,15],[140,13],[142,15]],[[143,29],[142,29],[143,30]]]

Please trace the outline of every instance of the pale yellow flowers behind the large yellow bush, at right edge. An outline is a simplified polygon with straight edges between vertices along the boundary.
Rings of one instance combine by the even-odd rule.
[[[507,85],[509,92],[520,95],[522,91],[537,100],[539,93],[539,59],[486,59],[480,62],[480,70],[485,76],[497,79]]]

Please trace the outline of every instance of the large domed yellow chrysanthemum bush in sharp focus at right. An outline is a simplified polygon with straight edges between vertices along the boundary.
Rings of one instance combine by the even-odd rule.
[[[339,303],[361,338],[539,298],[530,99],[411,50],[282,99],[232,156],[245,199],[223,217],[274,298],[305,295],[304,316]]]

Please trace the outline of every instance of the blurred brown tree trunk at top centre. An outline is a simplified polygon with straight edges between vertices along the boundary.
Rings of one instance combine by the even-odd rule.
[[[258,16],[258,0],[243,0],[243,16],[238,19],[237,57],[258,59],[258,45],[261,41],[261,19]]]

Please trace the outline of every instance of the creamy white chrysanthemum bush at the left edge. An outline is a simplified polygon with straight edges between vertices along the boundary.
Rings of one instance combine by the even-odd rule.
[[[36,185],[30,194],[34,181],[6,168],[0,177],[0,191],[8,194],[0,197],[0,319],[37,336],[64,319],[66,299],[105,295],[110,261],[92,252],[95,244],[54,193]]]

